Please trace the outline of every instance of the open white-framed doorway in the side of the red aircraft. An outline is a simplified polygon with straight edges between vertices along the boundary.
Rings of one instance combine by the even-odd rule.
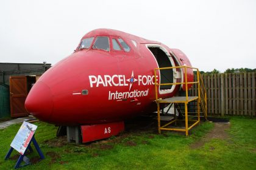
[[[175,66],[174,61],[168,52],[161,46],[148,45],[148,49],[157,60],[158,67],[172,67]],[[160,83],[176,83],[173,77],[173,69],[160,70]],[[160,94],[171,93],[174,90],[175,85],[160,86]]]

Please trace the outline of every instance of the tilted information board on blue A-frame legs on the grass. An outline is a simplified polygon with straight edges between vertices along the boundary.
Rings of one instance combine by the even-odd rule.
[[[5,156],[5,160],[7,160],[10,155],[12,154],[13,149],[18,151],[21,155],[16,162],[14,168],[21,168],[26,165],[30,165],[29,158],[26,157],[26,153],[29,150],[32,152],[31,143],[34,143],[35,149],[37,149],[38,154],[40,155],[41,159],[44,159],[43,152],[38,146],[37,141],[35,140],[35,130],[37,126],[35,124],[27,123],[26,121],[23,122],[19,131],[17,132],[15,138],[13,139],[12,143],[10,144],[10,150]],[[20,165],[21,162],[24,161],[24,165]]]

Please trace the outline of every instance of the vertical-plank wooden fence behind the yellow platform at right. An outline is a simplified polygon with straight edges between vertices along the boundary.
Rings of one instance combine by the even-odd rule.
[[[202,74],[207,90],[208,114],[256,116],[256,73]],[[197,87],[191,89],[197,95]]]

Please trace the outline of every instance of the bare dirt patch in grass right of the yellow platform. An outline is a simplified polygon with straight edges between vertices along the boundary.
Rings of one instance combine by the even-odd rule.
[[[218,138],[222,140],[226,140],[229,138],[229,134],[227,134],[226,129],[229,129],[230,123],[214,123],[214,127],[212,131],[210,131],[205,137],[203,137],[201,140],[196,141],[195,143],[190,145],[190,148],[197,149],[201,146],[204,146],[205,143],[212,140],[213,138]],[[214,150],[215,148],[211,148],[211,150]]]

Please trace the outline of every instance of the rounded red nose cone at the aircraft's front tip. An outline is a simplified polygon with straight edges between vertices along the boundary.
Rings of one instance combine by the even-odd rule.
[[[42,81],[35,83],[27,95],[25,107],[38,119],[49,121],[53,109],[51,89]]]

